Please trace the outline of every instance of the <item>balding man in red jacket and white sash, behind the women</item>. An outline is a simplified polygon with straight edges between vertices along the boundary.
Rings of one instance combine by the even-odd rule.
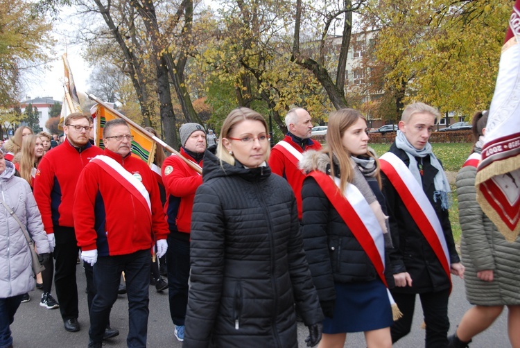
[[[298,218],[302,220],[302,185],[304,173],[298,168],[302,153],[320,150],[321,144],[311,139],[313,123],[311,115],[302,107],[289,110],[285,116],[288,133],[271,149],[269,166],[272,173],[284,177],[293,188],[298,207]]]

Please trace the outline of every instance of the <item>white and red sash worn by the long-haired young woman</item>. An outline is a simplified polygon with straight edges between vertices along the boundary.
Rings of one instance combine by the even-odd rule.
[[[320,171],[309,173],[313,177],[327,198],[338,211],[341,218],[345,222],[356,237],[363,250],[372,261],[376,268],[377,275],[388,288],[385,279],[385,241],[383,237],[383,229],[379,225],[374,211],[368,205],[367,200],[354,186],[348,184],[343,195],[338,190],[339,179],[332,179],[331,176]]]

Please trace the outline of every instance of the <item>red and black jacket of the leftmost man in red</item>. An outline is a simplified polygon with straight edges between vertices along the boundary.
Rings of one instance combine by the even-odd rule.
[[[73,227],[72,206],[74,191],[81,170],[101,148],[87,143],[81,151],[67,139],[42,158],[34,179],[34,196],[42,214],[45,231],[54,232],[54,226]]]

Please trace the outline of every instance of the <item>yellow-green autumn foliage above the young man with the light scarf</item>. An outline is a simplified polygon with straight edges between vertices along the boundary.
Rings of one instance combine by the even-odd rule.
[[[466,116],[488,108],[510,3],[368,1],[363,18],[379,29],[374,58],[396,113],[415,100]]]

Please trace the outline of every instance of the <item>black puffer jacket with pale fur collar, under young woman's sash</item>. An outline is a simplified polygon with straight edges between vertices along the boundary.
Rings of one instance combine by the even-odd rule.
[[[300,168],[311,171],[312,163],[318,164],[318,171],[330,173],[327,154],[306,152],[300,162]],[[334,173],[339,174],[337,165]],[[385,200],[377,181],[374,179],[367,182],[383,213],[386,214]],[[356,283],[379,279],[367,253],[313,177],[306,177],[304,180],[302,202],[304,249],[320,302],[336,299],[335,282]],[[393,286],[389,259],[385,259],[385,278],[388,286]]]

